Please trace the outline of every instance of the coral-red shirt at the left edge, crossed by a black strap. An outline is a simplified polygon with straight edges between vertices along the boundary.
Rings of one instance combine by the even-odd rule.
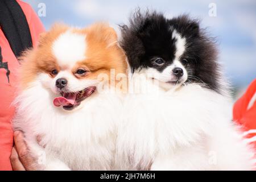
[[[30,27],[32,44],[36,46],[39,34],[44,31],[40,19],[27,3],[17,0],[22,8],[28,26]],[[10,81],[6,76],[6,69],[0,68],[0,170],[11,170],[10,154],[13,147],[13,130],[11,118],[14,114],[14,107],[11,102],[14,100],[15,82],[17,80],[16,71],[19,67],[18,60],[0,28],[0,46],[2,49],[2,63],[7,63],[10,70]]]

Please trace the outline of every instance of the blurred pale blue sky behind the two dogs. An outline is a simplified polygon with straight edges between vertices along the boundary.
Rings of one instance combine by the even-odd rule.
[[[107,21],[113,27],[126,23],[136,7],[162,11],[167,17],[190,14],[201,19],[201,27],[207,27],[217,38],[225,75],[234,86],[247,86],[256,78],[256,1],[213,0],[26,0],[39,11],[39,3],[46,5],[46,16],[41,16],[48,29],[55,22],[85,27],[95,21]],[[217,16],[209,16],[210,3],[216,4]]]

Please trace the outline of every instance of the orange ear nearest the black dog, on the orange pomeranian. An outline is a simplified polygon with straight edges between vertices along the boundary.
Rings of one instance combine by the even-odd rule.
[[[105,42],[106,47],[112,47],[117,44],[117,33],[108,23],[95,23],[88,30],[93,39]]]

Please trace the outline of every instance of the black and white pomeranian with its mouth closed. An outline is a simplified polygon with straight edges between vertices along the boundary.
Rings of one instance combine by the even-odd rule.
[[[117,168],[252,169],[251,149],[232,123],[216,45],[199,21],[137,10],[121,32],[131,76]]]

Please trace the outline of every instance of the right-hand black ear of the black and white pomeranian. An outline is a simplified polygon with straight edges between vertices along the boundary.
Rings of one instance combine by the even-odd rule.
[[[199,36],[200,34],[199,20],[191,19],[188,15],[181,15],[170,19],[170,25],[184,35]]]

